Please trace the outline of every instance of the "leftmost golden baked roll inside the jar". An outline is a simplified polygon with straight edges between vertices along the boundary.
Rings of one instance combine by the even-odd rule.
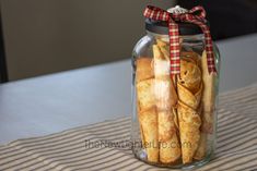
[[[141,139],[148,160],[159,162],[157,112],[153,94],[154,75],[152,59],[139,58],[137,61],[137,98]]]

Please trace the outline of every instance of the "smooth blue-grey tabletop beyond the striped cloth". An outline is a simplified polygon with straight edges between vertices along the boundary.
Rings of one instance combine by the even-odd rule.
[[[257,81],[257,34],[219,41],[221,91]],[[130,61],[0,85],[0,144],[130,114]]]

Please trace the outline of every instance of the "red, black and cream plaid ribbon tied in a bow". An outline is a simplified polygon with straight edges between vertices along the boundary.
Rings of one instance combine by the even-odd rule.
[[[179,49],[179,32],[176,22],[192,23],[198,25],[203,35],[207,52],[207,63],[209,73],[217,73],[215,62],[213,56],[213,46],[210,35],[210,29],[206,25],[206,11],[202,7],[195,7],[187,13],[168,13],[156,7],[147,7],[143,15],[148,19],[155,21],[168,22],[168,36],[170,36],[170,56],[171,56],[171,74],[180,73],[180,49]]]

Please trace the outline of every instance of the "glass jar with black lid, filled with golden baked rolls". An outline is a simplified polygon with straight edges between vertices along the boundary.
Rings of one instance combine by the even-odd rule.
[[[215,147],[219,50],[209,74],[202,32],[179,24],[180,74],[171,76],[167,25],[147,20],[145,28],[132,52],[132,151],[159,167],[202,166]]]

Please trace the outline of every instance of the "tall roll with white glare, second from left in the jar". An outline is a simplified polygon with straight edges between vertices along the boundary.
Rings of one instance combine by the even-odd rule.
[[[157,40],[157,45],[153,45],[154,93],[159,121],[160,161],[162,163],[175,162],[180,158],[180,146],[172,110],[177,103],[177,95],[171,80],[167,47],[162,40]]]

